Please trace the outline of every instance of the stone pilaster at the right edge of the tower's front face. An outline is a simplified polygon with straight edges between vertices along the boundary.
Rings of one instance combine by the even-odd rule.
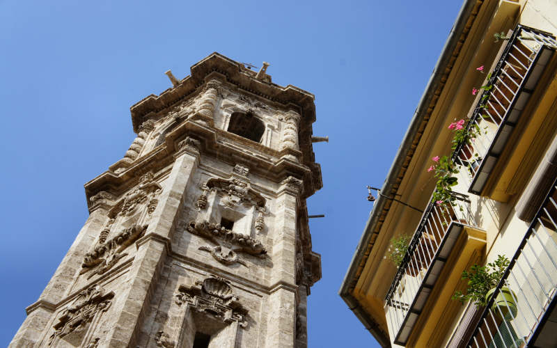
[[[301,180],[287,177],[278,190],[275,210],[272,291],[268,298],[266,347],[294,347],[296,315],[296,219]]]

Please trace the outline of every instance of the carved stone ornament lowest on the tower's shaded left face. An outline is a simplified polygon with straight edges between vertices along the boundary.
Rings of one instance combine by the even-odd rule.
[[[81,345],[81,340],[83,340],[89,324],[95,317],[107,311],[113,297],[114,292],[106,292],[97,284],[81,292],[58,318],[58,323],[54,325],[55,331],[50,336],[49,345],[52,345],[57,338],[64,338],[70,333],[75,333],[74,337],[68,338],[70,343]],[[98,340],[96,338],[87,347],[97,347]],[[75,346],[77,347],[77,345]]]

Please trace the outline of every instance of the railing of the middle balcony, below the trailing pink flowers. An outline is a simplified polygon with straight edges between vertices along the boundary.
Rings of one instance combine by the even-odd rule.
[[[455,206],[427,206],[386,295],[386,318],[395,344],[407,342],[462,228],[476,226],[467,197],[454,195]]]

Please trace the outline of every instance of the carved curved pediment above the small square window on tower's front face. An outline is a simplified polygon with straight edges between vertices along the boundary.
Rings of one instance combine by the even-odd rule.
[[[251,189],[249,183],[238,179],[223,180],[212,178],[207,181],[205,186],[208,189],[217,189],[228,194],[225,204],[228,206],[235,206],[240,203],[247,203],[256,205],[258,207],[265,207],[265,198],[259,193]]]

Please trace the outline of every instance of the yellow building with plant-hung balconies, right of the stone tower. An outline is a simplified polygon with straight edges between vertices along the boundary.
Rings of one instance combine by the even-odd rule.
[[[556,34],[556,1],[464,1],[340,288],[383,347],[557,347]]]

